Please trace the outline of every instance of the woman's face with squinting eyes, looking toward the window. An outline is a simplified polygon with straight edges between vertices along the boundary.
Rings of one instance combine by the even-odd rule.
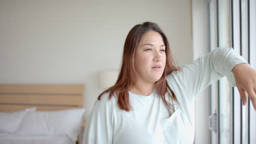
[[[147,83],[158,81],[165,69],[165,45],[161,35],[155,31],[145,33],[135,52],[136,79]]]

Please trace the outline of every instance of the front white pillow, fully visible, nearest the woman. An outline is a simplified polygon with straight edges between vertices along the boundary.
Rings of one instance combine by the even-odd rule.
[[[16,134],[22,136],[68,135],[76,141],[84,112],[85,109],[29,112]]]

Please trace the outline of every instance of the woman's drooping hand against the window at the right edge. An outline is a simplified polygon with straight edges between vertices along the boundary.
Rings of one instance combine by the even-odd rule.
[[[241,63],[232,69],[232,73],[235,76],[236,87],[243,100],[243,105],[247,103],[247,92],[256,111],[256,70],[249,64]]]

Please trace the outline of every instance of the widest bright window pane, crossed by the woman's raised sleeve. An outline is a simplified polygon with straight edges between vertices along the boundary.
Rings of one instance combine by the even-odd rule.
[[[230,47],[230,8],[229,0],[218,1],[218,40],[219,46]],[[231,87],[226,77],[219,80],[219,142],[231,143],[232,107]]]

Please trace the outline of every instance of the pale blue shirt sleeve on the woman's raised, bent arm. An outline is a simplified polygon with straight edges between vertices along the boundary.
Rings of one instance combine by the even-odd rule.
[[[235,65],[247,63],[232,48],[218,47],[212,52],[197,58],[195,61],[167,75],[167,82],[175,81],[183,91],[197,95],[211,83],[226,76],[231,86],[236,87],[235,77],[231,70]]]

